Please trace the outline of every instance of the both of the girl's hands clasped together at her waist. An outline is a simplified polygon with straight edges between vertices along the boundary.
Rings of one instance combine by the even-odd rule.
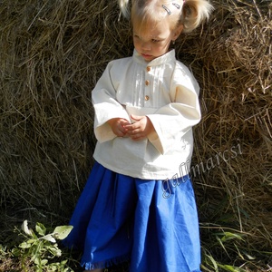
[[[112,118],[108,122],[113,133],[118,137],[130,137],[132,140],[140,141],[145,139],[152,131],[153,124],[147,116],[131,114],[133,123],[124,118]]]

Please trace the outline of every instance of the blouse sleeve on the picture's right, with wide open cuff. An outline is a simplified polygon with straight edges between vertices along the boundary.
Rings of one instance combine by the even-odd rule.
[[[150,118],[155,131],[149,140],[161,154],[169,151],[181,137],[201,118],[199,84],[187,67],[178,63],[170,84],[171,102],[161,107]]]

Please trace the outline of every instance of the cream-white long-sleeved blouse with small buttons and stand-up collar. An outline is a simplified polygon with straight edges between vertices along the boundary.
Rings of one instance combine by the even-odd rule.
[[[93,157],[105,168],[143,180],[189,173],[192,126],[200,120],[199,84],[189,69],[165,53],[150,63],[132,57],[109,63],[92,91],[97,144]],[[148,139],[117,137],[107,123],[116,117],[146,115],[155,132]]]

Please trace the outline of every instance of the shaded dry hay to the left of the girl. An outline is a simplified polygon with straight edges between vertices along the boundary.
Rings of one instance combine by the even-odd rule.
[[[71,209],[92,164],[93,85],[106,63],[126,53],[112,24],[117,6],[3,2],[2,205]]]

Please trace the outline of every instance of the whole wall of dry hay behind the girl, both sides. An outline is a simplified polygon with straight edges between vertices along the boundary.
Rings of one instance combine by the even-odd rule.
[[[200,223],[204,230],[248,233],[248,248],[267,250],[272,6],[265,0],[213,4],[209,23],[176,44],[201,86],[193,157],[203,166],[193,177]],[[93,85],[106,63],[133,49],[131,27],[118,17],[117,4],[108,0],[1,1],[2,208],[70,216],[92,166]]]

